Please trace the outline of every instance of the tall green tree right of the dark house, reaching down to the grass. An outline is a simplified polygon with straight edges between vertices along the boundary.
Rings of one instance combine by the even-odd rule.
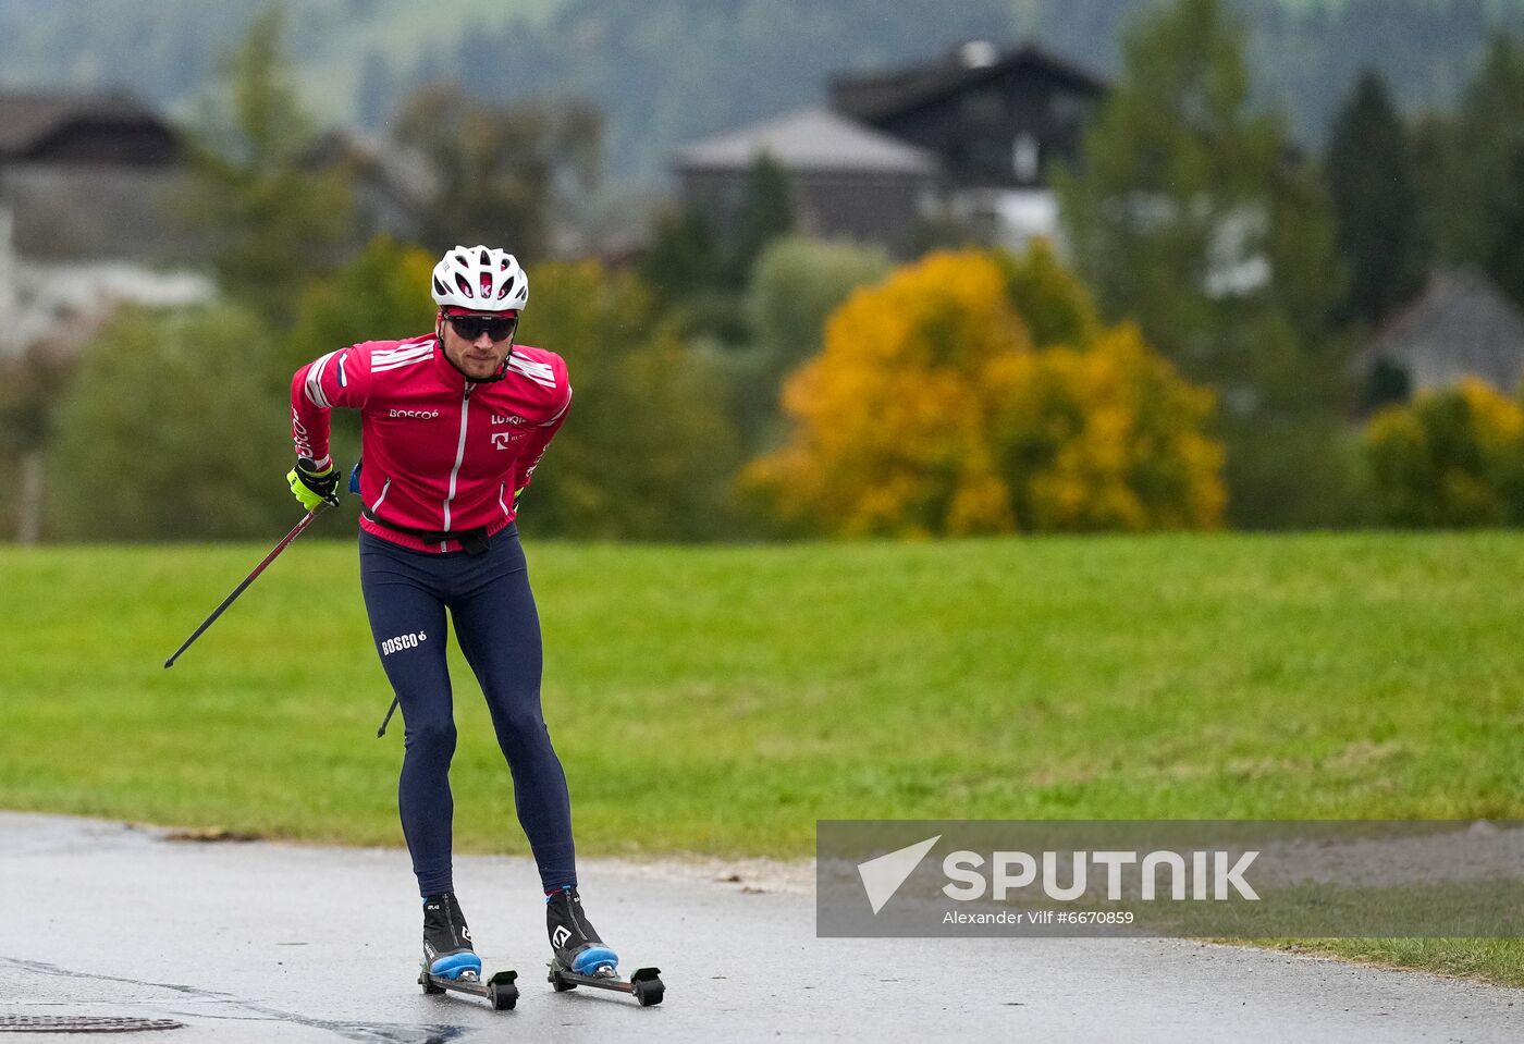
[[[1244,43],[1221,0],[1173,0],[1140,20],[1059,194],[1102,312],[1135,319],[1218,392],[1230,517],[1274,526],[1321,500],[1309,474],[1321,457],[1268,440],[1288,425],[1330,430],[1346,393],[1347,346],[1332,329],[1343,271],[1320,178],[1289,157],[1282,117],[1248,105]]]

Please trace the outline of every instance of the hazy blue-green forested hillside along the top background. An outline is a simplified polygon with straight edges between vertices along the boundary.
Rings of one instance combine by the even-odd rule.
[[[178,116],[215,93],[219,56],[268,0],[0,0],[0,84],[126,87]],[[419,87],[492,102],[581,98],[608,122],[616,184],[651,186],[683,142],[818,102],[832,73],[936,59],[969,38],[1033,37],[1106,78],[1122,29],[1158,0],[309,0],[287,5],[303,101],[379,131]],[[1321,148],[1359,70],[1404,113],[1445,108],[1521,0],[1234,0],[1253,104]]]

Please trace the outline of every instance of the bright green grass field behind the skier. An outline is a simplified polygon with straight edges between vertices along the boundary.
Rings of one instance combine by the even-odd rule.
[[[265,550],[0,550],[0,806],[401,844],[351,544],[296,544],[162,669]],[[1524,815],[1524,535],[529,555],[587,855],[799,857],[841,817]],[[457,847],[524,852],[456,666]],[[1524,985],[1487,948],[1367,956]]]

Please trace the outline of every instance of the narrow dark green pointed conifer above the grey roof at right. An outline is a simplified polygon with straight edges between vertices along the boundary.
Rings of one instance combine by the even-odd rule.
[[[1341,311],[1378,326],[1422,288],[1426,261],[1407,131],[1372,69],[1334,120],[1326,169],[1350,273]]]

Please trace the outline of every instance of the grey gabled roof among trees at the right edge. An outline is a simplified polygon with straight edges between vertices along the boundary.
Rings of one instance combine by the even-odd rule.
[[[1472,375],[1512,392],[1524,376],[1524,311],[1475,268],[1437,271],[1366,355],[1402,366],[1414,387]]]

